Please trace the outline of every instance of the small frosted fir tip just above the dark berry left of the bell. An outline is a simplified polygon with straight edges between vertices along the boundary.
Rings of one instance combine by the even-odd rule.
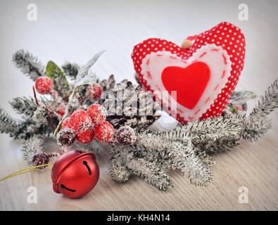
[[[27,162],[28,165],[32,165],[32,159],[35,153],[40,153],[43,151],[43,139],[42,136],[32,136],[30,139],[23,141],[23,160]]]

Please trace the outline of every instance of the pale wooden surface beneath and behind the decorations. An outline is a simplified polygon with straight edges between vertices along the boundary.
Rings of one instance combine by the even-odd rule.
[[[223,20],[246,34],[246,63],[237,90],[263,94],[278,77],[277,1],[244,1],[248,21],[239,21],[241,1],[32,1],[38,20],[27,20],[30,1],[0,3],[0,105],[18,118],[8,101],[32,96],[32,81],[11,63],[12,54],[27,49],[44,64],[65,60],[84,64],[94,53],[106,53],[94,67],[101,78],[111,73],[120,81],[133,80],[132,47],[148,37],[179,44]],[[251,101],[251,107],[255,101]],[[108,149],[97,155],[99,183],[84,198],[70,200],[53,193],[50,169],[0,182],[0,210],[278,210],[278,111],[272,129],[263,139],[241,145],[214,157],[213,183],[195,187],[179,172],[170,172],[175,188],[158,191],[132,177],[118,184],[108,174]],[[163,124],[160,124],[163,125]],[[172,124],[173,126],[174,124]],[[0,135],[0,177],[26,167],[21,141]],[[47,150],[56,150],[51,145]],[[35,186],[37,204],[27,203],[27,188]],[[248,188],[248,204],[238,201],[239,188]]]

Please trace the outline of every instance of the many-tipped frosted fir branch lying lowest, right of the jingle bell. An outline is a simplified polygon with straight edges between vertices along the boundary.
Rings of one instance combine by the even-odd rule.
[[[205,153],[196,153],[188,134],[180,141],[165,139],[167,131],[137,131],[137,142],[131,146],[115,146],[110,153],[110,174],[116,181],[127,181],[130,173],[160,190],[172,188],[164,169],[179,169],[191,184],[207,186],[212,180],[213,162]],[[201,156],[199,158],[199,155]]]

